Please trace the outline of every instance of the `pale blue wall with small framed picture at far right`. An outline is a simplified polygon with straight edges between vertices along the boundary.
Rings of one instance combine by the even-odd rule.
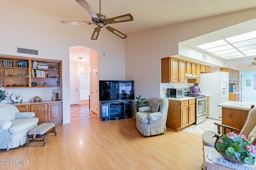
[[[254,90],[254,74],[256,74],[256,71],[242,72],[242,102],[256,103],[256,90]],[[251,86],[246,86],[246,80],[251,80]]]

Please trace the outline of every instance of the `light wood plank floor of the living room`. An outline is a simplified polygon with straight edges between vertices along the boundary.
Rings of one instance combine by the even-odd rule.
[[[83,108],[74,112],[78,110]],[[34,142],[28,148],[0,149],[0,160],[29,161],[0,164],[0,169],[201,170],[202,139],[184,131],[144,137],[133,119],[100,121],[96,117],[58,124],[56,130],[58,136],[46,137],[46,147]]]

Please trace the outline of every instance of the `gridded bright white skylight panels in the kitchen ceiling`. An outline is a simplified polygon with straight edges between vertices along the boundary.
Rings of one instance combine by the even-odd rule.
[[[256,55],[256,31],[198,45],[224,59],[235,59]]]

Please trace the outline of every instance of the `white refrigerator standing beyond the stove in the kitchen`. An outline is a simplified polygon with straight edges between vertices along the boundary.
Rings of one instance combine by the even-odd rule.
[[[202,94],[210,95],[208,118],[221,120],[221,108],[218,104],[228,101],[228,72],[200,74],[198,86]]]

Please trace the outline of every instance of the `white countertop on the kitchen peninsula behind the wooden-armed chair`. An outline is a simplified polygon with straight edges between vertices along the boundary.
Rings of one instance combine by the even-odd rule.
[[[228,101],[228,102],[218,104],[218,106],[219,107],[227,107],[230,109],[249,110],[252,104],[253,103]],[[254,105],[256,105],[256,104],[254,104]]]

